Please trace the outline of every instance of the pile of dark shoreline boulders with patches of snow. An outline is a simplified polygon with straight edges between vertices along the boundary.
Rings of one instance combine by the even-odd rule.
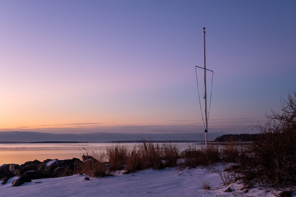
[[[3,164],[0,166],[0,183],[5,185],[10,178],[15,177],[12,186],[20,186],[34,179],[70,176],[79,173],[78,167],[83,163],[99,162],[91,156],[83,155],[82,159],[46,159],[43,162],[35,159],[21,165]],[[108,165],[107,162],[105,165]]]

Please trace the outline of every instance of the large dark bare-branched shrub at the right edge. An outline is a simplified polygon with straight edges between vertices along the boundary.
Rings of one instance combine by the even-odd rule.
[[[259,135],[239,157],[244,179],[281,190],[296,190],[296,92],[281,100],[281,112],[266,115]]]

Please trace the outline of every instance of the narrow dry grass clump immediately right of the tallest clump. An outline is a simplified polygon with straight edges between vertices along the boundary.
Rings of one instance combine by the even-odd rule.
[[[163,159],[165,167],[176,167],[179,156],[178,148],[175,144],[163,144]]]

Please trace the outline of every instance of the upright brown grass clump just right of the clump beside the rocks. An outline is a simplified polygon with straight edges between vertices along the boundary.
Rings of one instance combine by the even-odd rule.
[[[113,145],[106,149],[110,170],[123,170],[128,156],[128,149],[125,146]]]

